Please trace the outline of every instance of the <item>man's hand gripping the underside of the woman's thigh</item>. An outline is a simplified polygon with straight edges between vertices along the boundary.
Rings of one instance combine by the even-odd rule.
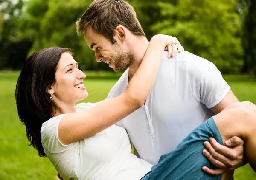
[[[239,137],[232,137],[225,141],[225,146],[219,144],[214,138],[204,142],[207,149],[203,150],[204,156],[216,167],[220,169],[209,169],[204,166],[203,170],[207,174],[219,175],[227,173],[233,169],[246,164],[244,158],[244,141]]]

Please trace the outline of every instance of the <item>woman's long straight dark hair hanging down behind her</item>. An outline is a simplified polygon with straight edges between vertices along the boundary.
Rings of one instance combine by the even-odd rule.
[[[26,61],[17,81],[15,98],[20,121],[26,126],[26,136],[40,157],[46,157],[41,143],[42,124],[52,118],[57,105],[50,100],[47,88],[55,83],[55,73],[62,53],[67,48],[44,48]],[[54,107],[54,108],[53,108]]]

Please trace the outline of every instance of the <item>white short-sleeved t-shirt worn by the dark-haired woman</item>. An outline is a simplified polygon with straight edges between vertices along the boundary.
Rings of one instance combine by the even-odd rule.
[[[93,104],[81,103],[77,111]],[[46,121],[41,142],[47,158],[64,180],[140,180],[152,165],[131,154],[128,135],[113,125],[89,138],[63,145],[58,139],[58,124],[65,114]]]

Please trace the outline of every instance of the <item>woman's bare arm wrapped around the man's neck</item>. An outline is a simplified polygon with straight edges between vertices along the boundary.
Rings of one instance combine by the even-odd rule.
[[[156,79],[163,50],[172,44],[180,43],[167,35],[152,37],[140,67],[122,95],[62,118],[58,127],[61,143],[70,144],[95,135],[142,107]]]

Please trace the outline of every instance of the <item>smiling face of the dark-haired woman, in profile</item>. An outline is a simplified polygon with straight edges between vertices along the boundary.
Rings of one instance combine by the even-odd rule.
[[[55,74],[56,82],[52,85],[53,101],[75,103],[87,98],[83,79],[86,75],[78,69],[77,62],[69,53],[63,53]]]

